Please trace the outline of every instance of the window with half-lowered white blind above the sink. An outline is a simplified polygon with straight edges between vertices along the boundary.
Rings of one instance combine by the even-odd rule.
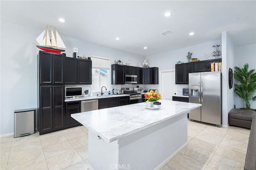
[[[91,55],[92,91],[101,91],[102,86],[109,89],[109,58]]]

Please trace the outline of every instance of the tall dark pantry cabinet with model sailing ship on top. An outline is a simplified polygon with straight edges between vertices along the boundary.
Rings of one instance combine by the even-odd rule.
[[[45,134],[64,129],[64,76],[65,54],[38,53],[38,131]]]

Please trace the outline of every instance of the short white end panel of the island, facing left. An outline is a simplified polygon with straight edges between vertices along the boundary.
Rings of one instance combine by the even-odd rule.
[[[96,133],[88,130],[88,163],[94,170],[114,169],[118,164],[118,141],[108,143],[99,139]]]

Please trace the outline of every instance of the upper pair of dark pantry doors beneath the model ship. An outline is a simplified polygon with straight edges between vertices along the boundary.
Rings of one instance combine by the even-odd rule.
[[[63,61],[65,54],[39,51],[39,82],[40,84],[63,84]]]

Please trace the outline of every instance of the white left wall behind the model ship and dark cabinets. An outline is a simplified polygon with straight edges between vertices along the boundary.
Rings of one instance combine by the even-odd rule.
[[[0,84],[0,135],[14,133],[14,110],[37,108],[37,54],[36,37],[43,31],[1,21],[1,84]],[[72,57],[73,47],[78,47],[79,56],[99,55],[109,57],[110,64],[120,59],[124,63],[132,59],[136,66],[144,56],[111,49],[101,45],[61,36]],[[88,87],[88,86],[86,86]],[[37,122],[36,122],[37,125]]]

